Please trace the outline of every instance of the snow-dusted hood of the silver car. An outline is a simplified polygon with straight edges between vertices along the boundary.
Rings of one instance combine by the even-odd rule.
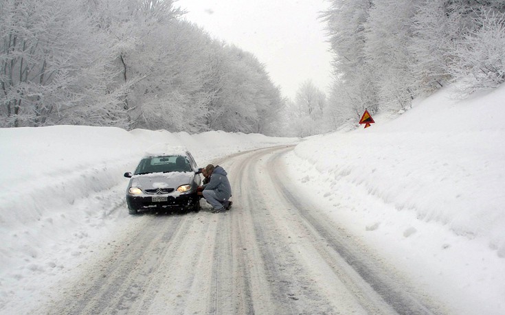
[[[131,178],[131,187],[142,189],[173,188],[180,185],[193,183],[193,172],[150,173],[134,175]]]

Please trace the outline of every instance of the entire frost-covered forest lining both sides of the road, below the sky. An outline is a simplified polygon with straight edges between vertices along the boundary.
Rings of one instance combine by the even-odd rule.
[[[0,128],[306,137],[505,80],[503,0],[328,2],[330,92],[300,78],[290,100],[253,53],[186,21],[175,0],[0,0]]]

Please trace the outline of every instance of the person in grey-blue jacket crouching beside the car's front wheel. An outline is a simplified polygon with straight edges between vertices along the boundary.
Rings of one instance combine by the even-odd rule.
[[[226,177],[227,172],[221,166],[209,164],[202,169],[202,174],[209,178],[209,182],[198,187],[198,194],[212,206],[212,213],[220,213],[229,210],[232,202],[229,198],[232,196],[232,187]]]

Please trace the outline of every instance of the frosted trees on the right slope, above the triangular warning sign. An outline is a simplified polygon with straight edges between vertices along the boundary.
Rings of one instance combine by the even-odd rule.
[[[503,0],[331,0],[327,128],[365,108],[403,113],[443,86],[455,97],[495,88],[505,80],[504,14]]]

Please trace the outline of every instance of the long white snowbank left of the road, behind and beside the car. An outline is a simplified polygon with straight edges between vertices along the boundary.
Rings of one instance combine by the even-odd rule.
[[[128,178],[149,148],[188,148],[205,166],[219,156],[297,143],[263,135],[86,126],[0,128],[0,313],[92,255],[93,242],[128,218]],[[24,301],[23,301],[24,300]]]

